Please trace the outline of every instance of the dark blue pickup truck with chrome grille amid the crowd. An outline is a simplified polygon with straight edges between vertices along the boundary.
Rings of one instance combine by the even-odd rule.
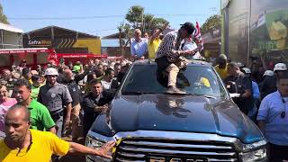
[[[192,61],[177,76],[186,94],[166,94],[157,65],[135,62],[86,146],[117,140],[112,161],[266,161],[266,139],[239,111],[214,68]],[[111,161],[87,156],[86,161]]]

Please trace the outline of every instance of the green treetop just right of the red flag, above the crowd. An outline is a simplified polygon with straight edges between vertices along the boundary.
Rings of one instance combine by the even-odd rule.
[[[219,14],[214,14],[209,17],[205,23],[201,26],[201,32],[209,32],[211,29],[220,29],[221,26],[221,16]]]

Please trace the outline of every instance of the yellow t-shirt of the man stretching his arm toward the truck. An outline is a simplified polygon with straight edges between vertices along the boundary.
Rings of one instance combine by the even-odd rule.
[[[30,130],[32,143],[31,147],[11,149],[6,146],[4,139],[0,140],[0,161],[1,162],[49,162],[52,154],[64,156],[67,154],[69,142],[58,139],[58,137],[48,131]]]

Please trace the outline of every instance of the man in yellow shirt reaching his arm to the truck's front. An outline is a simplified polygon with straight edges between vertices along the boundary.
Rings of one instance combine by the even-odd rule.
[[[30,112],[23,105],[14,105],[5,115],[4,132],[0,139],[1,162],[49,162],[52,154],[65,156],[71,153],[89,154],[111,158],[110,152],[115,145],[110,141],[100,149],[67,142],[47,131],[30,130]]]

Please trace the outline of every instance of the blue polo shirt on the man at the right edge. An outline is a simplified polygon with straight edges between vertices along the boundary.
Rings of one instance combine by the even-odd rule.
[[[288,146],[288,98],[284,98],[279,91],[268,94],[260,104],[257,121],[266,121],[264,135],[268,142],[275,145]],[[281,118],[281,112],[286,113]]]

